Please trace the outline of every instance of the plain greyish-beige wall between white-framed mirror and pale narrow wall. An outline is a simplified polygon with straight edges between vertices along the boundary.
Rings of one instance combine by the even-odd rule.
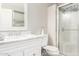
[[[28,4],[28,30],[38,34],[41,28],[47,28],[47,4],[29,3]]]

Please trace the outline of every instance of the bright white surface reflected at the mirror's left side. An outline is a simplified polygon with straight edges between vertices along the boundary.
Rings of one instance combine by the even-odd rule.
[[[11,21],[12,11],[8,9],[0,9],[0,31],[10,29]]]

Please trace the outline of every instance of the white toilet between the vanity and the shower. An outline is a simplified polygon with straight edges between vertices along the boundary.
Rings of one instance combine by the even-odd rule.
[[[46,50],[47,54],[49,56],[62,56],[60,53],[59,53],[59,50],[57,47],[55,46],[46,46],[46,47],[43,47],[43,49]]]

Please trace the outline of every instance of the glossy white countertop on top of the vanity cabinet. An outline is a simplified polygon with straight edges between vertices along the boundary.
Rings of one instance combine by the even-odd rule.
[[[15,42],[15,41],[22,41],[22,40],[29,40],[38,37],[43,37],[46,35],[22,35],[22,36],[6,36],[4,40],[0,41],[0,43],[8,43],[8,42]]]

